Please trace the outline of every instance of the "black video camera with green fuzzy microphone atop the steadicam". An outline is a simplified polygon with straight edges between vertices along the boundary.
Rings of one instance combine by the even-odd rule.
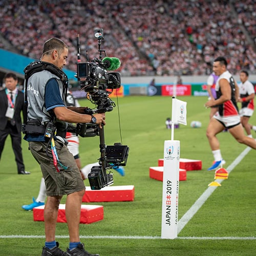
[[[87,61],[80,62],[80,42],[77,35],[77,80],[81,90],[87,93],[87,98],[96,105],[94,113],[104,113],[113,110],[115,102],[109,98],[109,94],[114,89],[121,86],[121,77],[118,72],[108,72],[116,70],[121,63],[118,58],[107,57],[104,50],[100,49],[103,37],[103,29],[95,29],[94,36],[98,40],[99,58],[89,60],[87,53]],[[105,57],[102,59],[102,53]],[[107,90],[109,89],[109,90]]]

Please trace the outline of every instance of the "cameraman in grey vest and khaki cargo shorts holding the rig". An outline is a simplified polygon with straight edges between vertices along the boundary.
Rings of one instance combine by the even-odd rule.
[[[46,242],[42,248],[42,256],[98,255],[84,250],[79,239],[81,203],[85,187],[74,157],[65,145],[65,135],[66,122],[92,122],[101,128],[101,124],[105,124],[105,114],[91,116],[82,114],[86,108],[66,107],[65,91],[67,92],[68,83],[63,78],[65,73],[61,70],[66,65],[68,46],[62,40],[58,38],[47,40],[42,52],[42,63],[49,65],[45,70],[32,73],[25,81],[28,101],[27,120],[30,123],[36,121],[36,125],[39,122],[40,125],[35,125],[35,129],[39,131],[39,128],[43,127],[42,130],[45,128],[47,132],[33,133],[25,129],[24,137],[29,142],[32,155],[40,164],[48,196],[44,210]],[[55,126],[56,136],[53,137]],[[58,248],[58,243],[55,241],[58,206],[64,195],[67,195],[66,218],[70,238],[67,254]]]

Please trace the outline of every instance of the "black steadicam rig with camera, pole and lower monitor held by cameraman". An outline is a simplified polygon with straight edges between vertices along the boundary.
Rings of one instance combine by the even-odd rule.
[[[77,36],[77,80],[81,90],[87,93],[87,98],[95,104],[94,109],[88,109],[86,114],[105,113],[113,110],[115,102],[109,98],[109,94],[113,89],[121,86],[120,73],[108,72],[116,70],[121,63],[118,58],[106,57],[104,50],[100,49],[103,37],[103,29],[95,29],[94,36],[98,40],[99,58],[89,60],[87,53],[87,62],[80,60],[80,42]],[[102,59],[102,53],[105,57]],[[107,90],[109,89],[109,90]],[[125,166],[129,147],[115,143],[113,146],[106,146],[104,139],[104,126],[99,129],[96,124],[77,124],[73,125],[71,131],[82,137],[92,137],[99,135],[100,138],[100,158],[99,166],[93,166],[88,175],[91,189],[101,189],[102,187],[114,183],[113,173],[114,166]]]

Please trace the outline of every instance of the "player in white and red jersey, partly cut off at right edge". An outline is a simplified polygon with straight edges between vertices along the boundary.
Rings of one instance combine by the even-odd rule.
[[[256,131],[256,126],[249,124],[249,119],[254,111],[255,90],[253,84],[248,80],[249,74],[247,71],[242,70],[240,72],[240,81],[238,84],[240,97],[238,99],[242,104],[242,108],[239,112],[241,117],[241,123],[247,133],[248,137],[252,138],[251,130]]]

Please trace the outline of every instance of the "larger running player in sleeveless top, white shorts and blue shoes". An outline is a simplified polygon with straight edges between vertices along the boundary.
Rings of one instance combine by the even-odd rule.
[[[240,123],[237,100],[239,89],[236,81],[227,70],[227,60],[225,57],[218,57],[213,64],[214,73],[219,76],[216,82],[217,99],[210,99],[205,103],[206,108],[219,105],[218,112],[210,119],[206,136],[208,138],[214,163],[208,170],[214,170],[221,166],[222,156],[220,142],[216,135],[225,128],[239,142],[256,149],[256,141],[245,136],[243,126]]]

